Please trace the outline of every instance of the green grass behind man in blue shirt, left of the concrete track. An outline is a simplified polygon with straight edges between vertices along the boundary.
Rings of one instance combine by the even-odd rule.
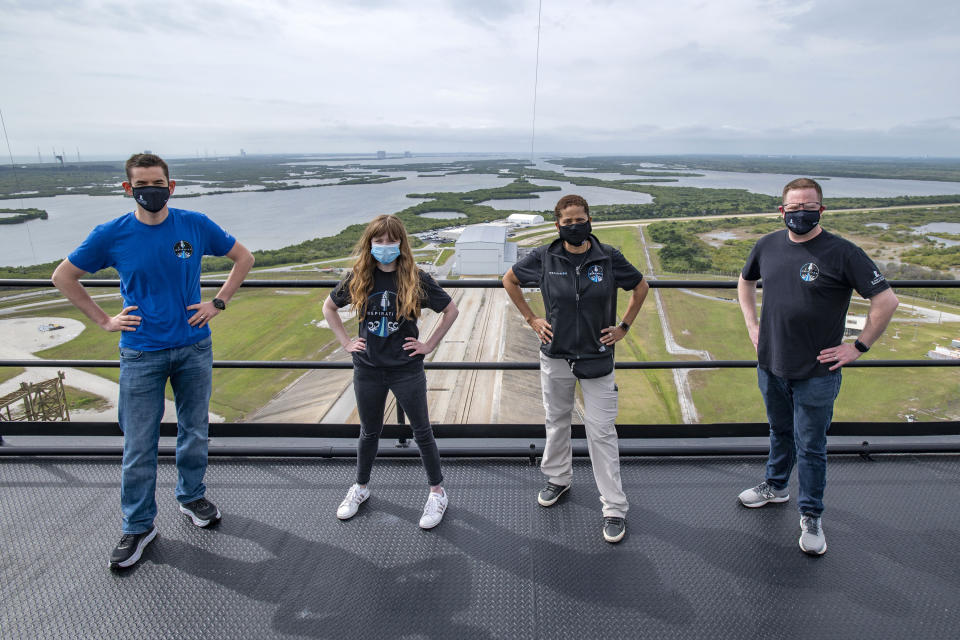
[[[244,289],[227,311],[213,322],[213,357],[217,360],[320,360],[337,345],[333,332],[315,326],[323,319],[321,304],[329,289],[302,289],[292,293]],[[119,311],[119,301],[106,305]],[[52,359],[115,359],[117,340],[93,325],[69,305],[44,313],[76,318],[87,326],[70,342],[38,352]],[[31,314],[24,314],[31,315]],[[119,369],[90,369],[116,381]],[[239,420],[262,407],[274,394],[303,373],[302,370],[215,369],[210,410],[226,420]],[[169,386],[168,397],[172,398]]]

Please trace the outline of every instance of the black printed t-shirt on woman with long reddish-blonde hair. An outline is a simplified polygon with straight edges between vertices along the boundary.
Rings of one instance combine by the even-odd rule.
[[[437,281],[420,271],[420,288],[423,295],[420,307],[440,312],[450,304],[450,296],[440,288]],[[330,292],[330,299],[337,307],[350,304],[350,278],[348,274]],[[407,338],[419,338],[417,321],[413,318],[397,318],[397,272],[374,270],[373,292],[367,298],[366,313],[359,323],[360,337],[366,340],[367,349],[353,354],[354,365],[367,367],[400,367],[421,362],[423,355],[410,357],[403,349]]]

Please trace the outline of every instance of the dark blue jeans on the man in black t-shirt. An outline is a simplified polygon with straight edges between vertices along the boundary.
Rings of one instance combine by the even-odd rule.
[[[790,380],[757,368],[760,393],[770,422],[767,484],[786,489],[794,462],[800,484],[800,513],[823,513],[827,486],[827,430],[840,393],[840,370],[825,376]]]

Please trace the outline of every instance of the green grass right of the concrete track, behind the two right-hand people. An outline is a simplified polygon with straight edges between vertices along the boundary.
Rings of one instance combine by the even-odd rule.
[[[603,230],[598,237],[623,251],[641,270],[646,268],[637,230]],[[656,260],[656,252],[653,252]],[[732,290],[702,290],[712,298],[677,290],[661,297],[674,337],[684,347],[705,349],[717,360],[754,360],[739,306]],[[620,312],[626,307],[621,293]],[[865,314],[868,305],[851,304],[851,312]],[[951,305],[907,298],[904,302],[956,312]],[[652,295],[617,352],[624,360],[670,360]],[[909,322],[907,312],[897,312],[895,322],[871,349],[867,358],[922,359],[934,344],[949,344],[960,336],[960,324]],[[903,320],[903,321],[901,321]],[[626,348],[624,348],[626,347]],[[644,376],[644,379],[640,379]],[[669,372],[621,371],[621,422],[679,422],[676,391]],[[692,371],[693,399],[703,422],[763,422],[765,412],[753,369]],[[878,393],[879,390],[882,392]],[[960,419],[960,370],[957,369],[848,369],[836,405],[837,420],[900,421],[907,414],[918,420]]]

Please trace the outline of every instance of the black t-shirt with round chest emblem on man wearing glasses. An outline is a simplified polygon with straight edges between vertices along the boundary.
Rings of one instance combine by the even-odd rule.
[[[871,298],[890,288],[860,247],[826,231],[807,242],[793,242],[786,229],[760,238],[741,275],[763,280],[760,366],[794,380],[829,373],[817,355],[843,340],[853,289]]]

